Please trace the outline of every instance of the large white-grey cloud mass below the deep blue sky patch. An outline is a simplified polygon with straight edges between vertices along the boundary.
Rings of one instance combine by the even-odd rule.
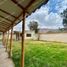
[[[60,15],[54,12],[49,13],[49,8],[47,6],[41,7],[35,13],[32,13],[27,19],[29,19],[29,21],[37,20],[40,28],[63,27]]]

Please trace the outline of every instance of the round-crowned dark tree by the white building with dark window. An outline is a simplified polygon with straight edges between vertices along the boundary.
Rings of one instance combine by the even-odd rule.
[[[28,24],[28,27],[31,31],[35,32],[35,37],[37,38],[37,40],[39,40],[39,34],[38,34],[38,22],[37,21],[30,21],[30,23]]]

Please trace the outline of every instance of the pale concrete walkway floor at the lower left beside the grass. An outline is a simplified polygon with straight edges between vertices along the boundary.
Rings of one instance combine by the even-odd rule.
[[[8,58],[8,53],[2,45],[0,45],[0,67],[14,67],[13,61]]]

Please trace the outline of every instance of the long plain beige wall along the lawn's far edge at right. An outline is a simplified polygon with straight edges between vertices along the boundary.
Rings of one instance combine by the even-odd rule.
[[[67,43],[67,33],[41,34],[40,40],[57,41]]]

